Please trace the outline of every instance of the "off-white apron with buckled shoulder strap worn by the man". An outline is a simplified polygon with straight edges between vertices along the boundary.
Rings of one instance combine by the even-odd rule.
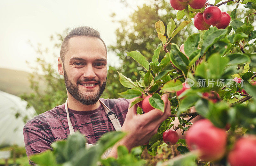
[[[108,116],[108,119],[111,121],[111,123],[113,124],[116,131],[121,131],[122,126],[121,126],[119,120],[117,119],[115,112],[110,111],[110,109],[100,99],[99,99],[99,101],[100,101],[100,104],[102,104],[102,106],[104,107],[104,110],[105,110],[105,112]],[[69,118],[69,113],[68,113],[68,99],[65,102],[65,110],[67,112],[68,128],[69,128],[70,135],[75,134],[74,128],[71,124],[71,121],[70,121],[70,118]],[[85,143],[86,148],[90,148],[92,146],[94,146],[94,145]],[[112,148],[109,148],[101,157],[106,158],[108,156],[108,154],[110,153],[111,149]]]

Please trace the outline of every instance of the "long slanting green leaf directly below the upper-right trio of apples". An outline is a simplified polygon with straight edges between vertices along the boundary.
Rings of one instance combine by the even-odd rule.
[[[204,39],[204,43],[201,49],[201,55],[203,55],[208,49],[216,43],[222,36],[226,35],[227,29],[218,29],[213,33],[209,34],[206,39]]]

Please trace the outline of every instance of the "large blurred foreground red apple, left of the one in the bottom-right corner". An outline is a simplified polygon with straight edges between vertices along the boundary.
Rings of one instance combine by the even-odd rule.
[[[199,158],[204,161],[216,161],[225,154],[227,134],[224,129],[213,126],[209,119],[198,120],[185,137],[190,150],[198,150]]]

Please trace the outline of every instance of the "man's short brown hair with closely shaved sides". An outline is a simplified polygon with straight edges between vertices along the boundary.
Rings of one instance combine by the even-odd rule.
[[[100,38],[100,32],[96,31],[95,29],[89,27],[89,26],[80,26],[75,29],[73,29],[71,32],[68,33],[68,35],[65,37],[65,39],[61,43],[61,48],[60,48],[60,59],[64,63],[64,57],[65,54],[68,52],[68,41],[72,37],[76,36],[86,36],[86,37],[91,37],[91,38],[99,38],[106,49],[106,54],[107,53],[107,47],[104,41]]]

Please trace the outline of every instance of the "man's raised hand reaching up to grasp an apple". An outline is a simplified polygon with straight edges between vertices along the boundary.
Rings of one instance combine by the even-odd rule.
[[[133,147],[148,143],[149,139],[157,133],[160,124],[171,115],[168,95],[164,94],[161,99],[164,101],[164,112],[154,109],[142,115],[137,114],[137,104],[130,108],[135,98],[131,100],[122,126],[122,131],[127,135],[120,141],[120,144],[131,150]]]

